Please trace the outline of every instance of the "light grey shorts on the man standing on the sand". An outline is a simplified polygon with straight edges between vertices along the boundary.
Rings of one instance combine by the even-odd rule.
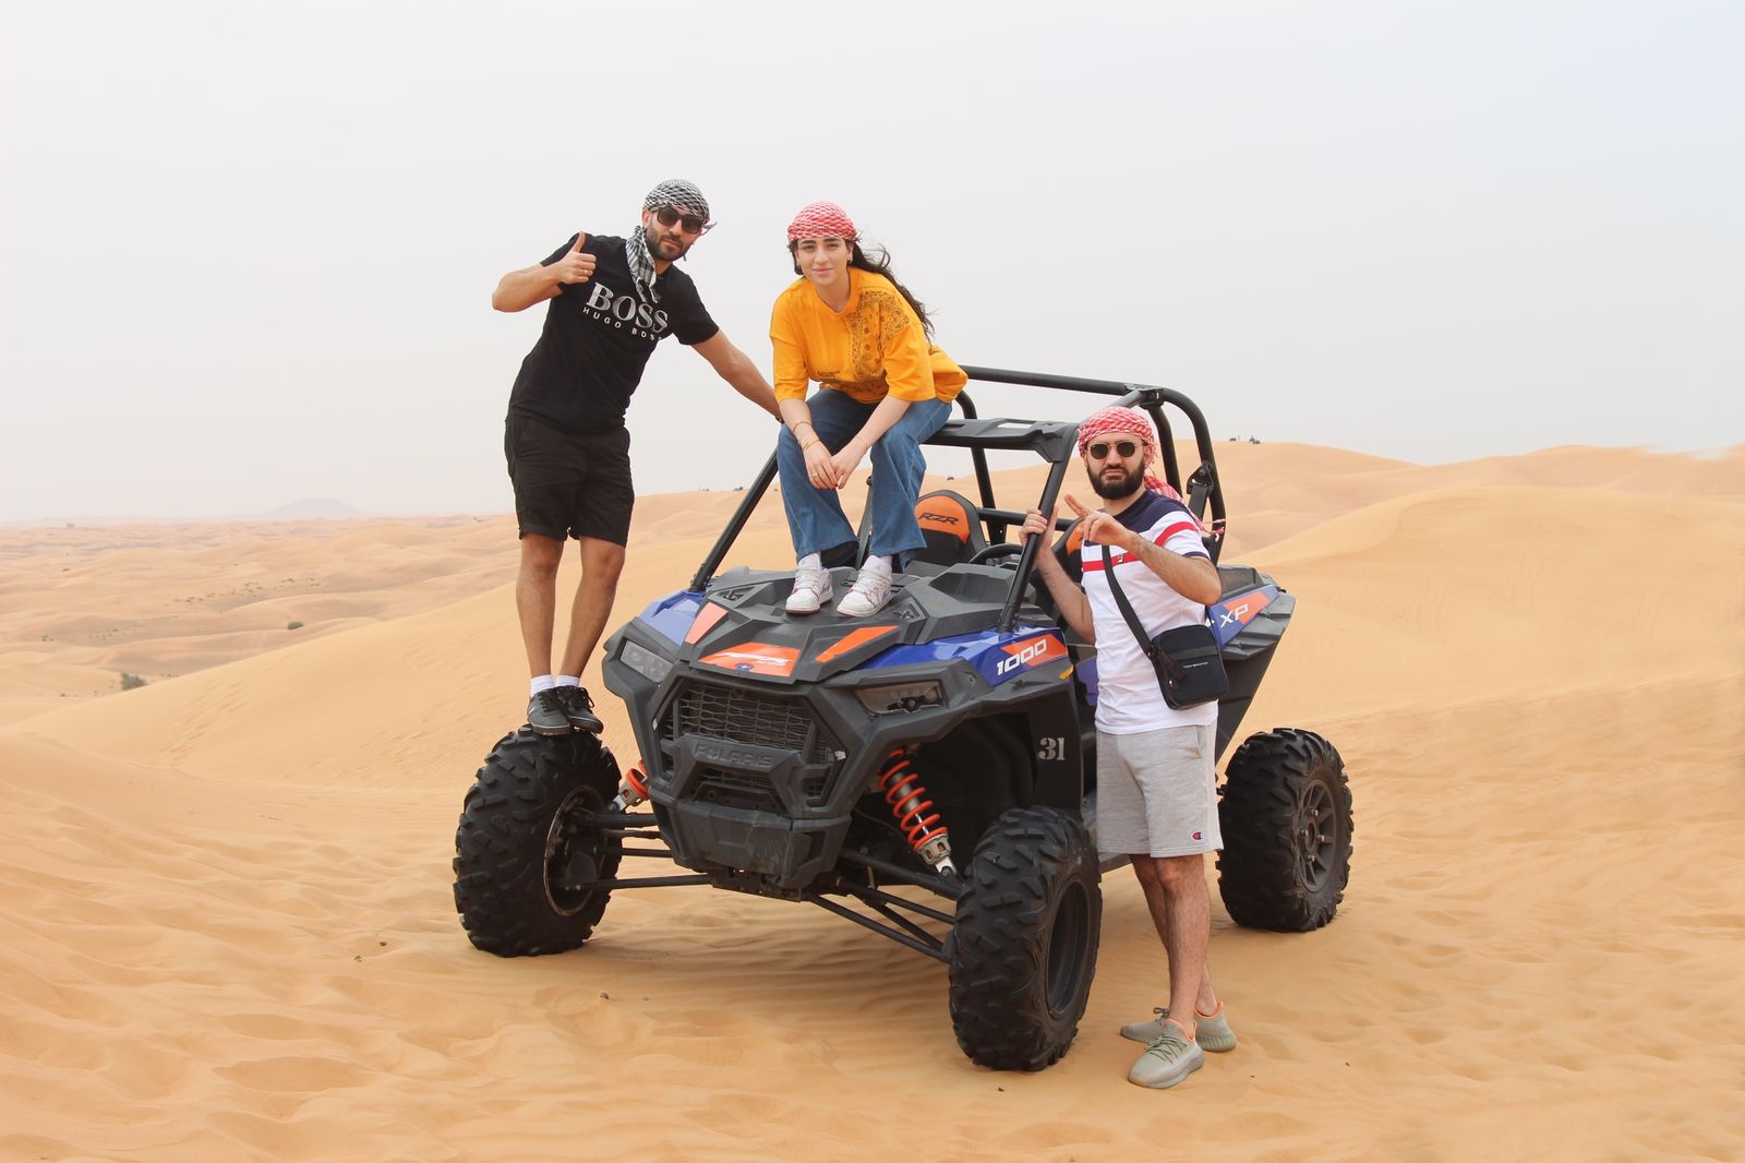
[[[1110,856],[1194,856],[1223,849],[1213,726],[1096,733],[1096,849]]]

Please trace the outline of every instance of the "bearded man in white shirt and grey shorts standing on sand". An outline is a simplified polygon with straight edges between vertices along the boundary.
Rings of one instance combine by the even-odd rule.
[[[1108,407],[1085,419],[1078,456],[1103,508],[1085,510],[1066,494],[1066,505],[1084,519],[1080,545],[1064,559],[1040,554],[1037,575],[1071,629],[1098,648],[1098,856],[1133,861],[1169,959],[1169,1004],[1153,1009],[1155,1018],[1122,1029],[1122,1036],[1146,1043],[1127,1081],[1162,1090],[1197,1070],[1204,1051],[1235,1048],[1206,964],[1211,894],[1204,854],[1223,847],[1215,774],[1218,702],[1181,711],[1164,702],[1157,672],[1110,592],[1108,571],[1150,636],[1202,623],[1222,585],[1194,513],[1146,473],[1157,435],[1143,412]],[[1026,536],[1052,529],[1052,513],[1031,510],[1024,520]]]

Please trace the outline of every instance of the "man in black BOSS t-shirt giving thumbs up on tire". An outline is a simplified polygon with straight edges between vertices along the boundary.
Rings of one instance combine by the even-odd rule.
[[[527,723],[543,735],[600,730],[581,669],[606,629],[625,564],[635,501],[625,409],[654,344],[677,335],[735,391],[780,419],[763,372],[728,342],[696,285],[672,265],[710,225],[701,190],[661,182],[630,237],[578,232],[544,262],[504,274],[490,297],[497,311],[550,300],[539,342],[515,377],[503,435],[522,538],[515,609],[532,674]],[[553,676],[557,568],[567,538],[581,547],[581,583],[562,671]]]

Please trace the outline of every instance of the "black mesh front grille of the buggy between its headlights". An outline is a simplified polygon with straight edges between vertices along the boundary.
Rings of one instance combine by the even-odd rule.
[[[660,721],[660,739],[668,754],[681,735],[796,751],[804,763],[829,767],[831,775],[841,767],[838,742],[824,730],[804,698],[789,695],[715,683],[686,683]],[[811,775],[804,781],[806,803],[813,807],[824,803],[831,775]],[[780,810],[780,796],[766,775],[724,772],[714,767],[705,770],[698,798],[733,807]]]

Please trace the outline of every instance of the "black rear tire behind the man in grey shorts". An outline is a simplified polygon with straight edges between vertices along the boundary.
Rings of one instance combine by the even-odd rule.
[[[1218,805],[1218,891],[1249,929],[1307,932],[1333,920],[1351,877],[1345,761],[1312,732],[1249,735]]]

